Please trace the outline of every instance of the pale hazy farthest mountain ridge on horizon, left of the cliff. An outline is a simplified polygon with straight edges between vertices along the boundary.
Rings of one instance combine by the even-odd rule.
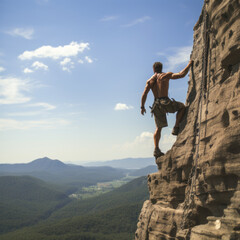
[[[89,162],[84,166],[109,166],[113,168],[140,169],[149,165],[154,165],[154,158],[124,158],[104,162]]]

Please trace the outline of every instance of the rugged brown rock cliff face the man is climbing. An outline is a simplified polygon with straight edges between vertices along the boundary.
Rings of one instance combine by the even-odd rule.
[[[240,1],[204,2],[187,113],[148,176],[136,240],[240,239]]]

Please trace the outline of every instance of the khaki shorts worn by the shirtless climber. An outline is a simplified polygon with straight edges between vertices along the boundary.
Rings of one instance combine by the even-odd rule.
[[[158,128],[168,126],[166,113],[175,113],[185,105],[170,98],[157,98],[152,106],[151,113],[154,115],[155,123]]]

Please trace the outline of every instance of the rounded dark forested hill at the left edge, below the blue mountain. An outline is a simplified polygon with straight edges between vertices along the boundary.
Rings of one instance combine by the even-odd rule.
[[[0,233],[46,219],[67,204],[64,188],[58,188],[29,176],[0,177]]]

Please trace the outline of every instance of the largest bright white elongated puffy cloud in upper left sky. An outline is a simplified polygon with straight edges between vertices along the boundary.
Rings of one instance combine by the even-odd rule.
[[[59,59],[64,57],[77,56],[85,49],[89,49],[89,43],[71,42],[70,44],[64,46],[42,46],[33,51],[25,51],[19,55],[18,58],[21,60],[30,60],[32,58]]]

